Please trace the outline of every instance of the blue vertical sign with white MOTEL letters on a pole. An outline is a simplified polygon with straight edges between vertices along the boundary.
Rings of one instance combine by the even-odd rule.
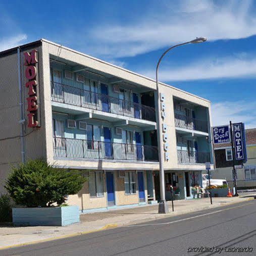
[[[232,124],[234,152],[236,160],[247,161],[245,129],[243,123]]]

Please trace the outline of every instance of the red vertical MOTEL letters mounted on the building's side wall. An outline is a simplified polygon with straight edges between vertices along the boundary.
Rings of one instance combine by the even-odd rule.
[[[30,53],[24,53],[24,66],[25,77],[27,79],[26,87],[28,88],[28,97],[27,97],[27,111],[28,111],[28,127],[34,128],[39,127],[38,124],[38,81],[37,81],[37,68],[36,64],[38,63],[36,58],[37,51],[34,49]]]

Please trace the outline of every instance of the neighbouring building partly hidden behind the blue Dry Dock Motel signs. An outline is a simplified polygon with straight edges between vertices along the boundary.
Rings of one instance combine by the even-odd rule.
[[[247,162],[237,169],[237,187],[240,189],[256,188],[256,129],[245,129]],[[233,156],[230,143],[218,144],[214,147],[216,170],[212,172],[213,179],[226,179],[233,187]],[[242,161],[236,161],[242,165]]]

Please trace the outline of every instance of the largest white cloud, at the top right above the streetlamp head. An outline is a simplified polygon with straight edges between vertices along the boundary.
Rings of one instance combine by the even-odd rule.
[[[208,40],[238,39],[256,34],[256,18],[251,1],[185,1],[169,6],[159,4],[158,12],[141,13],[127,24],[94,26],[88,32],[92,41],[86,46],[91,54],[136,56],[173,43],[206,36]],[[153,9],[153,8],[152,8]],[[104,47],[103,47],[104,45]]]

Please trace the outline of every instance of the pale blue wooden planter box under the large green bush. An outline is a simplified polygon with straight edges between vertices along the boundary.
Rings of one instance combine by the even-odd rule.
[[[13,223],[29,226],[65,226],[79,222],[77,206],[13,208]]]

